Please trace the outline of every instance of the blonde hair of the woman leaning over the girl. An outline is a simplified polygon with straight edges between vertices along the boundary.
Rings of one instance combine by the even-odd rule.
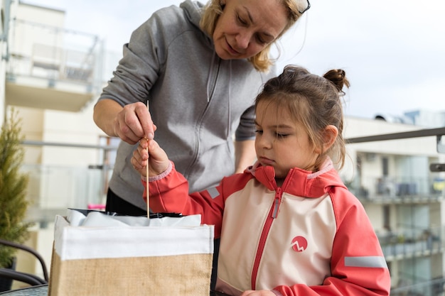
[[[282,5],[286,8],[287,11],[287,24],[282,33],[277,36],[279,39],[284,33],[286,33],[289,28],[299,19],[301,13],[298,8],[298,0],[280,0],[282,1]],[[224,4],[221,4],[220,0],[210,0],[208,4],[203,9],[203,16],[200,20],[200,27],[205,33],[213,36],[213,32],[215,32],[216,23],[218,22],[218,18],[223,13]],[[275,39],[274,42],[277,40]],[[269,67],[273,65],[273,62],[269,56],[270,48],[272,47],[270,43],[263,50],[261,50],[257,55],[253,57],[249,57],[247,60],[252,63],[254,68],[261,72],[266,72],[269,70]]]

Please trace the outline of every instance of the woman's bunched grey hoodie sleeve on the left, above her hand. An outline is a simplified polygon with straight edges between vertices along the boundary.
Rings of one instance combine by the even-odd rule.
[[[133,31],[99,100],[114,99],[122,106],[146,102],[165,64],[171,38],[186,27],[181,11],[175,6],[160,9]]]

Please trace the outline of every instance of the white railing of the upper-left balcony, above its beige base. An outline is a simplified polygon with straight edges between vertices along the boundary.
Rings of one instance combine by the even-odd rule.
[[[26,40],[9,43],[8,78],[38,77],[57,82],[102,86],[100,40],[96,35],[15,20],[14,31]]]

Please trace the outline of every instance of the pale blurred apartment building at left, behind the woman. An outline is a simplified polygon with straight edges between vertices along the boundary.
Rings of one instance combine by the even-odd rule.
[[[106,82],[107,55],[98,36],[64,29],[65,11],[0,4],[0,122],[12,108],[22,119],[28,216],[36,222],[29,244],[49,263],[55,214],[103,198],[107,176],[97,168],[107,150],[98,147],[108,143],[92,122],[92,106]]]

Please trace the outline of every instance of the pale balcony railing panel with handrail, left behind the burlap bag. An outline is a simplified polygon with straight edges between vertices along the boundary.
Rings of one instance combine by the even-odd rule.
[[[113,170],[110,160],[117,146],[38,141],[23,141],[23,146],[58,150],[74,148],[97,155],[97,162],[88,165],[24,164],[21,172],[29,177],[28,199],[31,202],[28,221],[36,222],[44,228],[54,221],[56,214],[65,215],[68,208],[85,209],[92,204],[104,204]]]

